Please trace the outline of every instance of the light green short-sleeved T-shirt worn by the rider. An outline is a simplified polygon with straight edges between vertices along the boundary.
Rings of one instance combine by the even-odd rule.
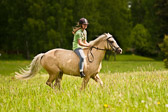
[[[79,29],[75,34],[74,34],[74,39],[73,39],[73,50],[77,49],[77,48],[82,48],[82,46],[80,46],[78,44],[78,39],[85,41],[87,40],[87,32],[86,30],[82,31],[81,29]]]

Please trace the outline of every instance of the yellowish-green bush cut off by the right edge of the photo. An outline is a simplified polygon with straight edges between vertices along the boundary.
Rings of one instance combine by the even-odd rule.
[[[159,44],[159,47],[161,48],[162,52],[165,55],[164,63],[165,67],[168,68],[168,36],[165,35],[163,43]]]

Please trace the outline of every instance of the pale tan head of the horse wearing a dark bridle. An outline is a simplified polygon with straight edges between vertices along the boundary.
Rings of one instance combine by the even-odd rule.
[[[117,44],[117,42],[115,41],[115,39],[113,38],[113,36],[109,33],[105,33],[105,39],[107,41],[107,45],[105,46],[105,48],[107,50],[113,50],[118,54],[122,54],[122,49],[120,48],[120,46]]]

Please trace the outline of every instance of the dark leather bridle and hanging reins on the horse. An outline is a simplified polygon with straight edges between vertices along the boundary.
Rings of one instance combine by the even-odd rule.
[[[111,51],[117,51],[120,47],[115,47],[115,46],[113,46],[112,45],[112,42],[111,41],[109,41],[109,39],[110,38],[113,38],[112,36],[110,36],[110,37],[108,37],[107,39],[106,39],[106,41],[107,41],[107,47],[109,48],[109,46],[110,46],[110,48],[111,48]],[[93,56],[93,53],[92,53],[92,49],[97,49],[97,50],[104,50],[104,51],[106,51],[107,49],[102,49],[102,48],[99,48],[99,47],[95,47],[95,46],[92,46],[92,47],[90,47],[90,49],[89,49],[89,52],[87,53],[87,57],[88,57],[88,61],[90,62],[90,63],[92,63],[93,61],[94,61],[94,56]],[[91,56],[92,56],[92,60],[90,60],[90,58],[89,58],[89,53],[91,54]]]

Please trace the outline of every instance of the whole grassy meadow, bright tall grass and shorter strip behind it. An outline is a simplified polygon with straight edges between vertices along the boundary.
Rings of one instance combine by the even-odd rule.
[[[93,80],[80,91],[82,79],[63,76],[62,89],[52,90],[41,70],[21,81],[14,72],[31,61],[0,61],[1,112],[168,112],[168,71],[162,61],[135,55],[118,55],[103,61],[101,88]]]

